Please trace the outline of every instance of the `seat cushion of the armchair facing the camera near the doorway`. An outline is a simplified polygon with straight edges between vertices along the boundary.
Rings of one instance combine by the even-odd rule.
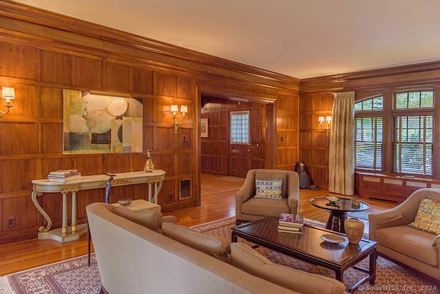
[[[250,198],[241,204],[241,212],[257,216],[280,216],[281,213],[290,213],[287,198],[281,200]]]

